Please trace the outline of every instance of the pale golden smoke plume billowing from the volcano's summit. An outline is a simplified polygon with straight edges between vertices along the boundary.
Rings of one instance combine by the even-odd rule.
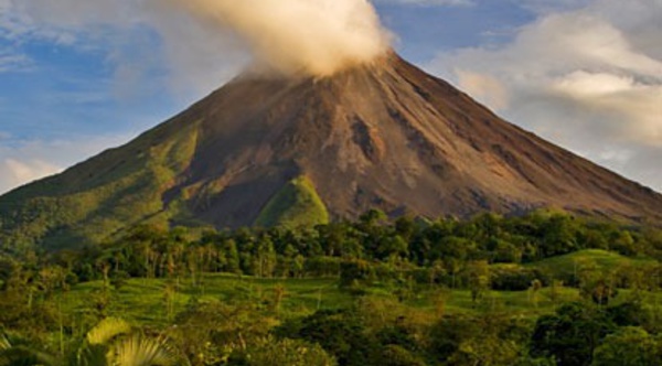
[[[258,64],[277,72],[329,76],[388,49],[388,33],[367,0],[167,0],[237,35]]]

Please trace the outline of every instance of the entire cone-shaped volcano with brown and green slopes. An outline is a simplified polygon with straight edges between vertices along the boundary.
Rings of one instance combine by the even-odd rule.
[[[128,144],[0,197],[0,229],[7,243],[58,247],[140,223],[277,225],[301,202],[320,220],[556,207],[662,222],[662,195],[392,52],[324,78],[239,76]]]

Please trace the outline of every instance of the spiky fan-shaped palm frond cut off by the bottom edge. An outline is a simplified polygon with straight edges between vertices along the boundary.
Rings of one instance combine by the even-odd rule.
[[[179,357],[166,341],[140,335],[119,342],[113,353],[117,366],[170,366],[179,365]]]

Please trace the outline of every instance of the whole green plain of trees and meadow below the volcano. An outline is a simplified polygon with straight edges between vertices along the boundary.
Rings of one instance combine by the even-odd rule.
[[[548,212],[141,226],[2,255],[0,365],[650,365],[661,238]]]

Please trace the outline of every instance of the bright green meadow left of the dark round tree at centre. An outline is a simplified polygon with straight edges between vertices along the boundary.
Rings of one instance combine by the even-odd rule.
[[[318,309],[343,308],[352,297],[338,289],[334,279],[255,279],[233,274],[209,273],[202,284],[192,286],[181,278],[179,289],[171,298],[172,313],[181,312],[196,298],[201,301],[250,301],[268,305],[278,287],[285,289],[284,312],[310,313]],[[65,312],[85,312],[90,309],[95,293],[103,281],[86,282],[63,294]],[[168,320],[168,281],[164,279],[130,279],[119,290],[110,290],[109,315],[121,316],[139,323],[159,324]]]

